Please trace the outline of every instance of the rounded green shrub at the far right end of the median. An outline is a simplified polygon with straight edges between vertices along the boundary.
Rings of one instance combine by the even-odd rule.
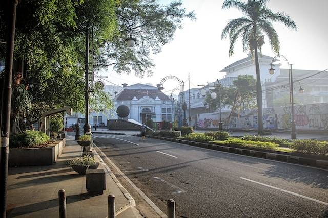
[[[328,154],[328,142],[318,141],[313,139],[295,140],[293,144],[289,146],[298,152],[315,154],[315,155],[327,155]]]

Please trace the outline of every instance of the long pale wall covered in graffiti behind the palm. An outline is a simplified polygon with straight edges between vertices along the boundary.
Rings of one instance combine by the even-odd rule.
[[[299,130],[328,130],[328,103],[294,106],[296,128]],[[230,119],[228,122],[228,118]],[[291,106],[263,109],[265,129],[290,129]],[[223,125],[229,129],[257,129],[257,110],[224,111],[221,113]],[[198,114],[198,127],[217,128],[219,113]]]

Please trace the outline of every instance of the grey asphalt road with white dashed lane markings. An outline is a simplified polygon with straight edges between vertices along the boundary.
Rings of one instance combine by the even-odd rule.
[[[180,217],[328,217],[328,171],[134,136],[95,144],[163,211]]]

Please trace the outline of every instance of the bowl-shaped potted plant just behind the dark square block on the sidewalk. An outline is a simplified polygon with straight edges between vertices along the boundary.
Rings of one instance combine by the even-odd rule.
[[[68,164],[74,169],[74,171],[81,175],[85,175],[87,169],[97,169],[99,166],[99,162],[90,155],[77,157],[74,160],[71,160]]]

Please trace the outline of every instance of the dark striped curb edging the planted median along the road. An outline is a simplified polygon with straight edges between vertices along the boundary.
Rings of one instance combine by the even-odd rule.
[[[229,146],[215,145],[215,144],[196,142],[196,141],[188,141],[188,140],[182,140],[182,139],[177,139],[177,138],[166,138],[166,137],[161,137],[161,136],[150,136],[150,135],[148,135],[147,137],[160,139],[160,140],[166,140],[166,141],[173,141],[173,142],[177,142],[177,143],[181,143],[181,144],[187,144],[189,146],[206,148],[206,149],[211,149],[211,150],[216,150],[216,151],[223,151],[223,152],[235,153],[235,154],[240,154],[240,155],[247,155],[247,156],[259,157],[259,158],[264,158],[264,159],[277,160],[277,161],[281,161],[281,162],[316,166],[319,168],[328,169],[328,160],[318,160],[318,159],[314,159],[314,158],[301,157],[301,156],[296,156],[296,155],[278,154],[278,153],[272,153],[272,152],[256,151],[256,150],[252,150],[252,149],[234,148],[234,147],[229,147]]]

